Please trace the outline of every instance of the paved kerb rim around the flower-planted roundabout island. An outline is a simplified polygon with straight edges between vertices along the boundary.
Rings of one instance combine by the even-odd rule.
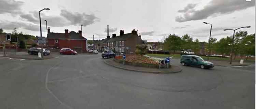
[[[170,66],[169,68],[157,69],[153,66],[139,67],[139,66],[133,66],[133,65],[127,65],[127,64],[123,65],[122,63],[116,62],[114,60],[115,59],[105,59],[104,62],[112,67],[116,67],[116,68],[124,69],[124,70],[136,71],[136,72],[158,73],[159,74],[159,73],[178,73],[181,71],[181,68],[179,66],[174,66],[174,65]]]

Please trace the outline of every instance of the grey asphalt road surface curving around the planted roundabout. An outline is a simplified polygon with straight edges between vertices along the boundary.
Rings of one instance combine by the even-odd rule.
[[[0,108],[254,108],[254,70],[180,67],[173,74],[126,71],[106,65],[100,54],[0,59]]]

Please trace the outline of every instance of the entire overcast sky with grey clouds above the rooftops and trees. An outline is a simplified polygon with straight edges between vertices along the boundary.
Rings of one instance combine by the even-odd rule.
[[[80,30],[87,39],[106,38],[106,27],[110,34],[119,35],[120,29],[130,33],[139,30],[143,40],[161,41],[163,36],[189,34],[193,39],[207,41],[212,23],[212,37],[222,38],[241,30],[255,33],[255,0],[0,0],[0,28],[40,36],[39,15],[41,12],[43,36],[46,23],[51,32],[64,33]]]

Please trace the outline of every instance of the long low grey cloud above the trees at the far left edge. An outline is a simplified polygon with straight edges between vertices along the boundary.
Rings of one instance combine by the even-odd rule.
[[[26,30],[31,31],[40,31],[39,25],[31,24],[31,23],[24,23],[24,22],[9,22],[9,21],[0,21],[1,28],[6,30],[12,30],[14,28],[23,28]],[[46,28],[42,26],[42,28]],[[46,31],[45,29],[42,29],[42,31]]]

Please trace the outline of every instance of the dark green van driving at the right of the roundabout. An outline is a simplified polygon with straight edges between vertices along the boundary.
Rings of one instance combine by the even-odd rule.
[[[195,67],[200,67],[202,69],[205,68],[213,68],[214,64],[205,61],[203,58],[200,56],[195,56],[195,55],[182,55],[180,58],[180,63],[182,66],[195,66]]]

